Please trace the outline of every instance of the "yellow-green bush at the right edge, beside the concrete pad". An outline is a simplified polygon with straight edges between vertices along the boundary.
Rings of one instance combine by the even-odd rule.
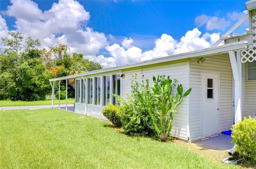
[[[256,164],[256,120],[244,117],[231,130],[236,151],[249,162]]]

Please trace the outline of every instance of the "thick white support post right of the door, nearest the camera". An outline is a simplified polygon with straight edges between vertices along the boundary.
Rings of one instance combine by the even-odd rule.
[[[235,124],[242,120],[242,63],[234,51],[229,51],[229,59],[234,77]]]

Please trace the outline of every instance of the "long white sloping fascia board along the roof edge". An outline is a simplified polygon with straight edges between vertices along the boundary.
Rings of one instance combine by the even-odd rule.
[[[88,71],[86,73],[81,73],[81,74],[76,74],[76,75],[53,78],[53,79],[50,79],[50,82],[61,81],[61,80],[65,80],[65,79],[71,79],[71,78],[88,76],[88,75],[99,74],[99,73],[106,73],[106,72],[114,71],[114,70],[121,70],[121,69],[127,69],[127,68],[152,65],[155,63],[162,63],[162,62],[187,59],[187,58],[195,58],[195,57],[206,57],[206,56],[214,55],[214,54],[227,53],[228,51],[233,51],[233,50],[247,49],[247,47],[248,47],[248,42],[241,41],[241,42],[230,43],[230,44],[216,46],[216,47],[210,47],[210,48],[203,49],[203,50],[171,55],[169,57],[162,57],[162,58],[142,61],[142,62],[128,64],[128,65],[121,65],[121,66],[116,66],[116,67]]]

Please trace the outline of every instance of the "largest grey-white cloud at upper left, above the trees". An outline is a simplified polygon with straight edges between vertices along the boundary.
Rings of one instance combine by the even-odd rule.
[[[4,13],[17,19],[17,30],[40,39],[42,46],[62,43],[68,45],[71,52],[95,55],[108,45],[105,34],[86,26],[90,13],[77,1],[60,0],[44,12],[30,0],[12,0],[11,3]]]

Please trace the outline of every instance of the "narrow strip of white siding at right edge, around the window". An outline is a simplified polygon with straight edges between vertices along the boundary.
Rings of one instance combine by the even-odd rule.
[[[245,63],[244,116],[253,116],[256,112],[256,81],[249,81],[247,75],[247,63]]]

